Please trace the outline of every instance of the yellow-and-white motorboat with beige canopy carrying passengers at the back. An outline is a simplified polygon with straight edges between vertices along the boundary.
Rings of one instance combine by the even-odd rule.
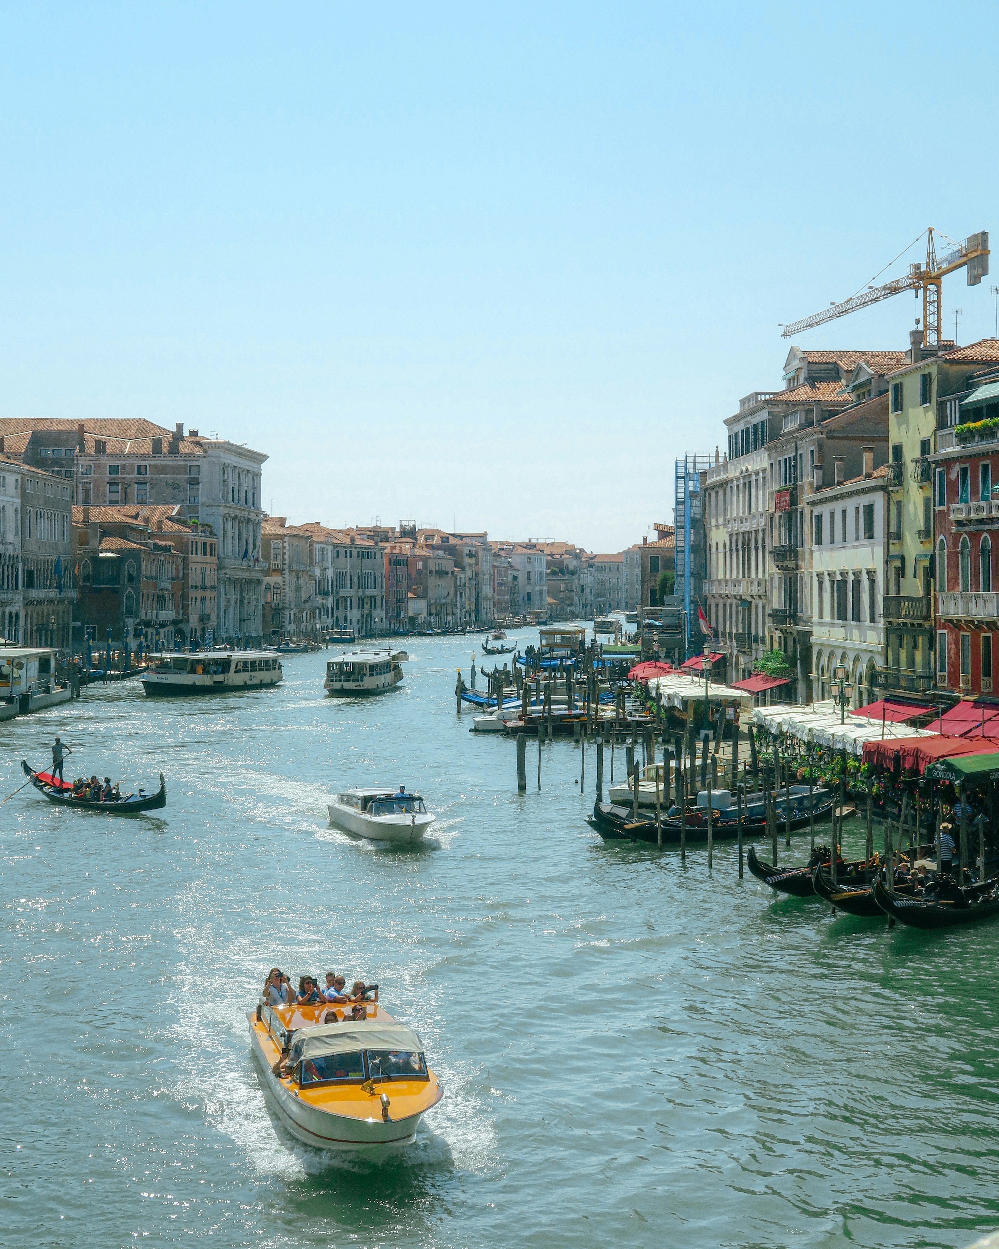
[[[377,1160],[415,1142],[443,1089],[413,1029],[377,1003],[365,1008],[367,1018],[355,1020],[341,1004],[261,1002],[246,1018],[282,1127],[316,1149]]]

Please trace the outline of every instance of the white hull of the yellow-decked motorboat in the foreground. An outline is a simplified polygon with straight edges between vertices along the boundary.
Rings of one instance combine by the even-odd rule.
[[[406,1119],[385,1123],[381,1119],[356,1119],[346,1114],[333,1114],[308,1105],[273,1074],[253,1028],[253,1013],[250,1012],[246,1018],[250,1025],[250,1047],[271,1104],[277,1112],[281,1125],[292,1137],[315,1149],[358,1153],[372,1160],[398,1153],[413,1144],[425,1110]]]

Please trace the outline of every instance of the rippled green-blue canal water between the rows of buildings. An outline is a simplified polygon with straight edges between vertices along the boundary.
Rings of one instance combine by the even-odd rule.
[[[518,796],[513,743],[456,716],[475,641],[412,641],[367,702],[290,656],[275,691],[132,682],[0,727],[4,794],[56,732],[69,772],[169,792],[127,821],[30,788],[0,812],[2,1243],[873,1249],[999,1227],[999,924],[888,931],[739,882],[727,847],[709,876],[701,851],[602,843],[592,749],[581,794],[578,747],[544,746],[538,792],[531,743]],[[438,814],[427,846],[330,828],[332,792],[397,782]],[[377,982],[420,1032],[446,1095],[406,1157],[276,1128],[246,1024],[272,964]]]

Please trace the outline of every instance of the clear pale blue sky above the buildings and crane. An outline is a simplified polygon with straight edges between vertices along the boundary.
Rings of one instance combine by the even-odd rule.
[[[995,14],[0,4],[0,412],[247,442],[293,521],[619,550],[928,225],[993,231],[944,309],[995,332]]]

